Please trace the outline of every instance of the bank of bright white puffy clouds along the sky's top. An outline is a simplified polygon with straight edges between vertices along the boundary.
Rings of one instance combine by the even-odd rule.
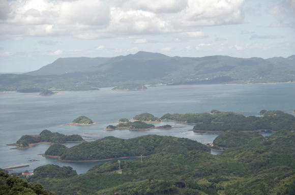
[[[243,21],[244,0],[1,0],[0,34],[80,39],[184,33]]]

